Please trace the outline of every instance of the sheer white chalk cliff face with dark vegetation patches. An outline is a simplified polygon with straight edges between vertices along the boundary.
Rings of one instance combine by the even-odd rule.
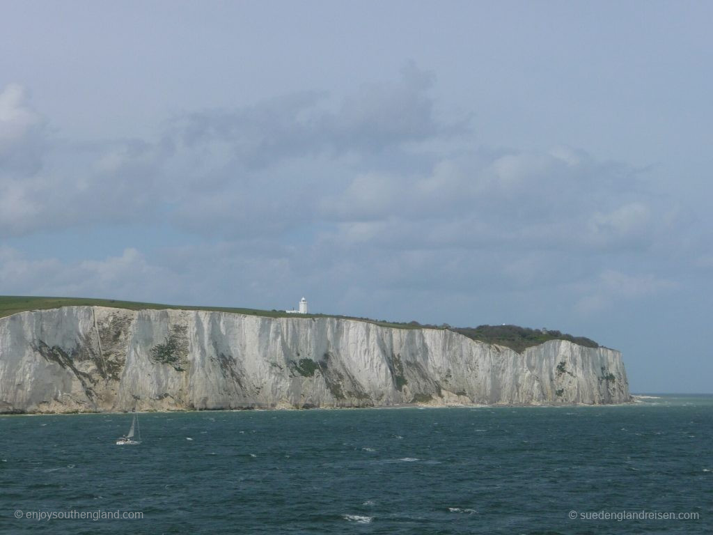
[[[337,318],[63,307],[0,319],[0,412],[630,400],[621,355]]]

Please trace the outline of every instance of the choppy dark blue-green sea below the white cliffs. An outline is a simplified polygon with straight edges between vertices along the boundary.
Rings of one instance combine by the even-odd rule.
[[[130,419],[0,417],[0,533],[713,533],[710,396]]]

